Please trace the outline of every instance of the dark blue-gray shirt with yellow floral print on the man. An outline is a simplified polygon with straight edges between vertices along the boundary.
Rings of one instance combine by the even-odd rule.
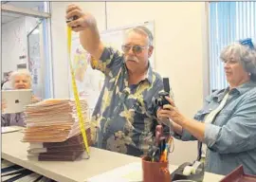
[[[96,147],[126,155],[146,155],[154,144],[155,106],[153,98],[163,91],[161,77],[149,65],[145,80],[128,84],[123,54],[105,47],[92,68],[105,75],[100,98],[92,115],[92,138]],[[164,127],[165,134],[169,129]]]

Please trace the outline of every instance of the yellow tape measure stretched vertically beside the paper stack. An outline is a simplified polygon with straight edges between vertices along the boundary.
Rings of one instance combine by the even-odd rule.
[[[83,122],[83,117],[82,117],[82,109],[81,109],[81,104],[80,104],[80,100],[79,100],[77,83],[75,80],[75,74],[74,74],[74,70],[73,70],[73,66],[72,66],[72,62],[71,62],[71,37],[72,37],[71,27],[67,27],[67,51],[68,51],[70,72],[71,72],[71,77],[72,77],[72,88],[73,88],[73,93],[74,93],[74,97],[75,97],[75,101],[76,101],[77,113],[78,113],[78,117],[79,117],[80,129],[81,129],[81,133],[82,133],[85,150],[87,152],[87,155],[90,156],[88,141],[87,141],[86,133],[84,130],[84,125],[83,125],[84,122]]]

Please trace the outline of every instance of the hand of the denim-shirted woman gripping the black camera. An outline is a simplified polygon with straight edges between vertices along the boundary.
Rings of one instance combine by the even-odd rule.
[[[170,104],[165,104],[163,108],[157,111],[157,118],[171,118],[175,123],[182,126],[186,118],[178,111],[174,100],[169,97],[166,97],[166,100],[168,100]]]

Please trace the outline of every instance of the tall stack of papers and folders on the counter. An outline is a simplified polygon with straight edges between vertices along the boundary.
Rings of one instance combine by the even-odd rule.
[[[91,144],[88,104],[81,100],[83,126]],[[75,100],[44,100],[27,105],[24,142],[29,142],[29,157],[38,160],[75,160],[84,151]]]

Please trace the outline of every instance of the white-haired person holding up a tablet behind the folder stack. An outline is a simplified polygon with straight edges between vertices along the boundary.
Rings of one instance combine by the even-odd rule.
[[[30,89],[31,88],[31,75],[27,70],[13,71],[9,79],[12,89]],[[32,96],[31,102],[35,103],[40,101],[38,98]],[[2,111],[6,108],[5,100],[2,100]],[[25,126],[24,113],[2,114],[1,126]]]

